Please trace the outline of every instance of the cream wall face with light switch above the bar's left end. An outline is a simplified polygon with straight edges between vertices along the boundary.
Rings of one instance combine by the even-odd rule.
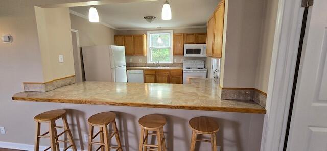
[[[43,82],[75,75],[69,8],[35,7]],[[64,62],[59,63],[59,55]]]

